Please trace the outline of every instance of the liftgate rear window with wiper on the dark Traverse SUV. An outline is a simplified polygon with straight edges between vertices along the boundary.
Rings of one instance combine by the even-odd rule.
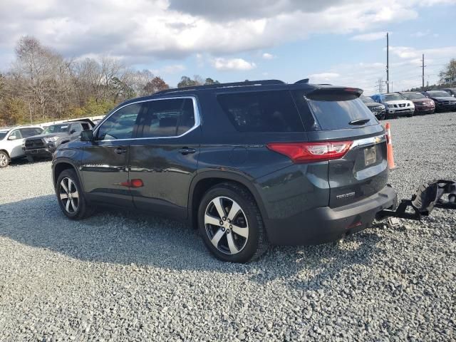
[[[305,95],[302,91],[296,91],[295,96],[298,103],[307,101],[314,114],[316,123],[309,125],[310,130],[315,130],[317,123],[321,130],[343,130],[378,124],[371,110],[353,93],[322,90]],[[300,107],[304,108],[303,105]],[[368,121],[361,125],[351,125],[350,123],[355,120]]]

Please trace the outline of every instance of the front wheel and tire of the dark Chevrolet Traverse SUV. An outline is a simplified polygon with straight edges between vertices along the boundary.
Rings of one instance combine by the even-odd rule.
[[[69,219],[85,219],[93,214],[74,170],[63,170],[57,178],[58,205]]]

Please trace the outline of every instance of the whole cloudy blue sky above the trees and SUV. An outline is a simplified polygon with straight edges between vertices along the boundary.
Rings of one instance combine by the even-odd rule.
[[[68,58],[119,58],[170,86],[279,79],[378,93],[421,86],[456,58],[456,0],[1,0],[0,71],[21,36]],[[384,87],[385,88],[385,87]]]

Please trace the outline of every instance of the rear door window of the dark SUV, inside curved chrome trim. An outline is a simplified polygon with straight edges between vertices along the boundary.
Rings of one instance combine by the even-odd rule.
[[[141,124],[141,138],[183,135],[195,126],[193,101],[191,98],[150,101]]]

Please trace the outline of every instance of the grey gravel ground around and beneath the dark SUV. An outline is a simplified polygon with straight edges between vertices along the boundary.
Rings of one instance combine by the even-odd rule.
[[[400,197],[456,180],[456,113],[390,122]],[[456,213],[225,264],[172,220],[69,221],[50,166],[0,170],[1,341],[456,341]]]

